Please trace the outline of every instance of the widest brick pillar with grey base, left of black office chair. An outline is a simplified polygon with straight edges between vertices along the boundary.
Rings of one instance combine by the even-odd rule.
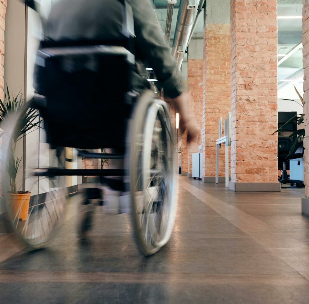
[[[231,0],[231,184],[280,191],[277,169],[277,0]]]

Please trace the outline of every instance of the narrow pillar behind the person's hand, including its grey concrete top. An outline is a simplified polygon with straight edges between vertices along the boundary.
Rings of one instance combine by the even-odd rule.
[[[188,49],[188,115],[198,129],[197,140],[188,146],[188,176],[192,177],[192,153],[198,153],[202,144],[202,111],[203,111],[203,40],[194,39]]]

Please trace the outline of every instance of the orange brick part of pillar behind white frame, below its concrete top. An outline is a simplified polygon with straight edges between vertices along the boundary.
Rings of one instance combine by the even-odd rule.
[[[219,118],[224,119],[231,103],[231,27],[230,24],[207,24],[204,32],[203,92],[203,176],[216,174],[215,142]],[[224,131],[222,131],[223,133]],[[225,149],[219,154],[219,176],[225,176]]]

